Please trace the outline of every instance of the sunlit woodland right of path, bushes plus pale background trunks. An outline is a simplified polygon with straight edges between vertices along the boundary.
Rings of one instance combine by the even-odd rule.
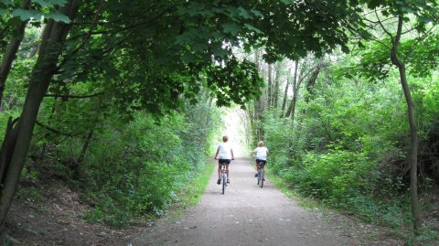
[[[272,153],[270,170],[302,196],[406,231],[412,224],[410,131],[399,74],[390,71],[382,80],[346,76],[356,60],[333,54],[260,64],[267,87],[246,111],[252,144],[264,140]],[[421,207],[430,236],[437,237],[431,206],[439,175],[439,84],[435,72],[410,79],[421,138]]]

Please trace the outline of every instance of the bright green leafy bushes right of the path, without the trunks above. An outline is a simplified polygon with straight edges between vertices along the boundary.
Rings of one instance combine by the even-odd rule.
[[[388,59],[379,52],[363,56],[381,57]],[[412,223],[408,174],[403,169],[410,136],[398,74],[388,72],[377,79],[385,70],[371,63],[350,67],[376,76],[374,82],[363,80],[345,67],[358,58],[340,60],[334,73],[319,76],[311,93],[299,92],[294,123],[278,119],[278,112],[265,112],[262,124],[264,143],[272,153],[270,169],[302,196],[406,230]],[[436,79],[435,74],[433,79],[409,77],[426,149],[427,143],[437,143]],[[427,164],[422,168],[431,170]]]

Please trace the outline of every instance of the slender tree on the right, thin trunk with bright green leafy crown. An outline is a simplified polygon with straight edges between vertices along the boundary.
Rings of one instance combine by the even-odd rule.
[[[389,73],[389,66],[397,67],[402,91],[407,103],[407,117],[410,124],[410,194],[412,205],[413,230],[419,233],[422,226],[418,201],[418,134],[415,121],[415,105],[412,100],[410,85],[407,80],[407,65],[412,64],[412,72],[420,75],[420,60],[423,55],[417,53],[432,35],[437,25],[436,13],[439,10],[435,1],[427,2],[383,2],[365,1],[372,13],[365,17],[369,23],[369,35],[362,36],[378,43],[375,50],[365,56],[361,63],[361,74],[367,77],[383,78]],[[376,35],[374,35],[376,34]],[[437,53],[433,46],[427,52]],[[428,62],[427,68],[435,66],[435,60]],[[418,63],[418,64],[416,64]],[[425,64],[425,61],[421,62]],[[425,69],[425,68],[424,68]],[[418,70],[418,71],[416,71]],[[369,74],[366,74],[369,73]],[[424,73],[426,75],[428,73]]]

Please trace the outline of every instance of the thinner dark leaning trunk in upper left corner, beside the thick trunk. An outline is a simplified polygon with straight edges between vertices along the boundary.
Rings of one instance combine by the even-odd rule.
[[[29,9],[30,0],[23,0],[22,8]],[[20,47],[21,40],[25,35],[27,21],[21,21],[14,30],[14,37],[6,48],[5,57],[0,66],[0,111],[3,111],[3,93],[5,91],[6,79],[11,71],[12,62],[16,59],[16,51]]]

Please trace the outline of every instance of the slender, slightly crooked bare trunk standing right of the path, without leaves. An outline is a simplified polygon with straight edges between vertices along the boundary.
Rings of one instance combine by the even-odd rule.
[[[407,103],[407,115],[410,125],[410,203],[412,205],[412,221],[415,234],[419,234],[422,226],[421,213],[419,211],[418,201],[418,134],[417,125],[414,117],[414,103],[409,83],[407,82],[405,64],[398,57],[398,46],[402,35],[402,16],[398,17],[398,31],[396,37],[392,40],[391,63],[395,65],[400,72],[402,91],[404,91],[405,101]]]

